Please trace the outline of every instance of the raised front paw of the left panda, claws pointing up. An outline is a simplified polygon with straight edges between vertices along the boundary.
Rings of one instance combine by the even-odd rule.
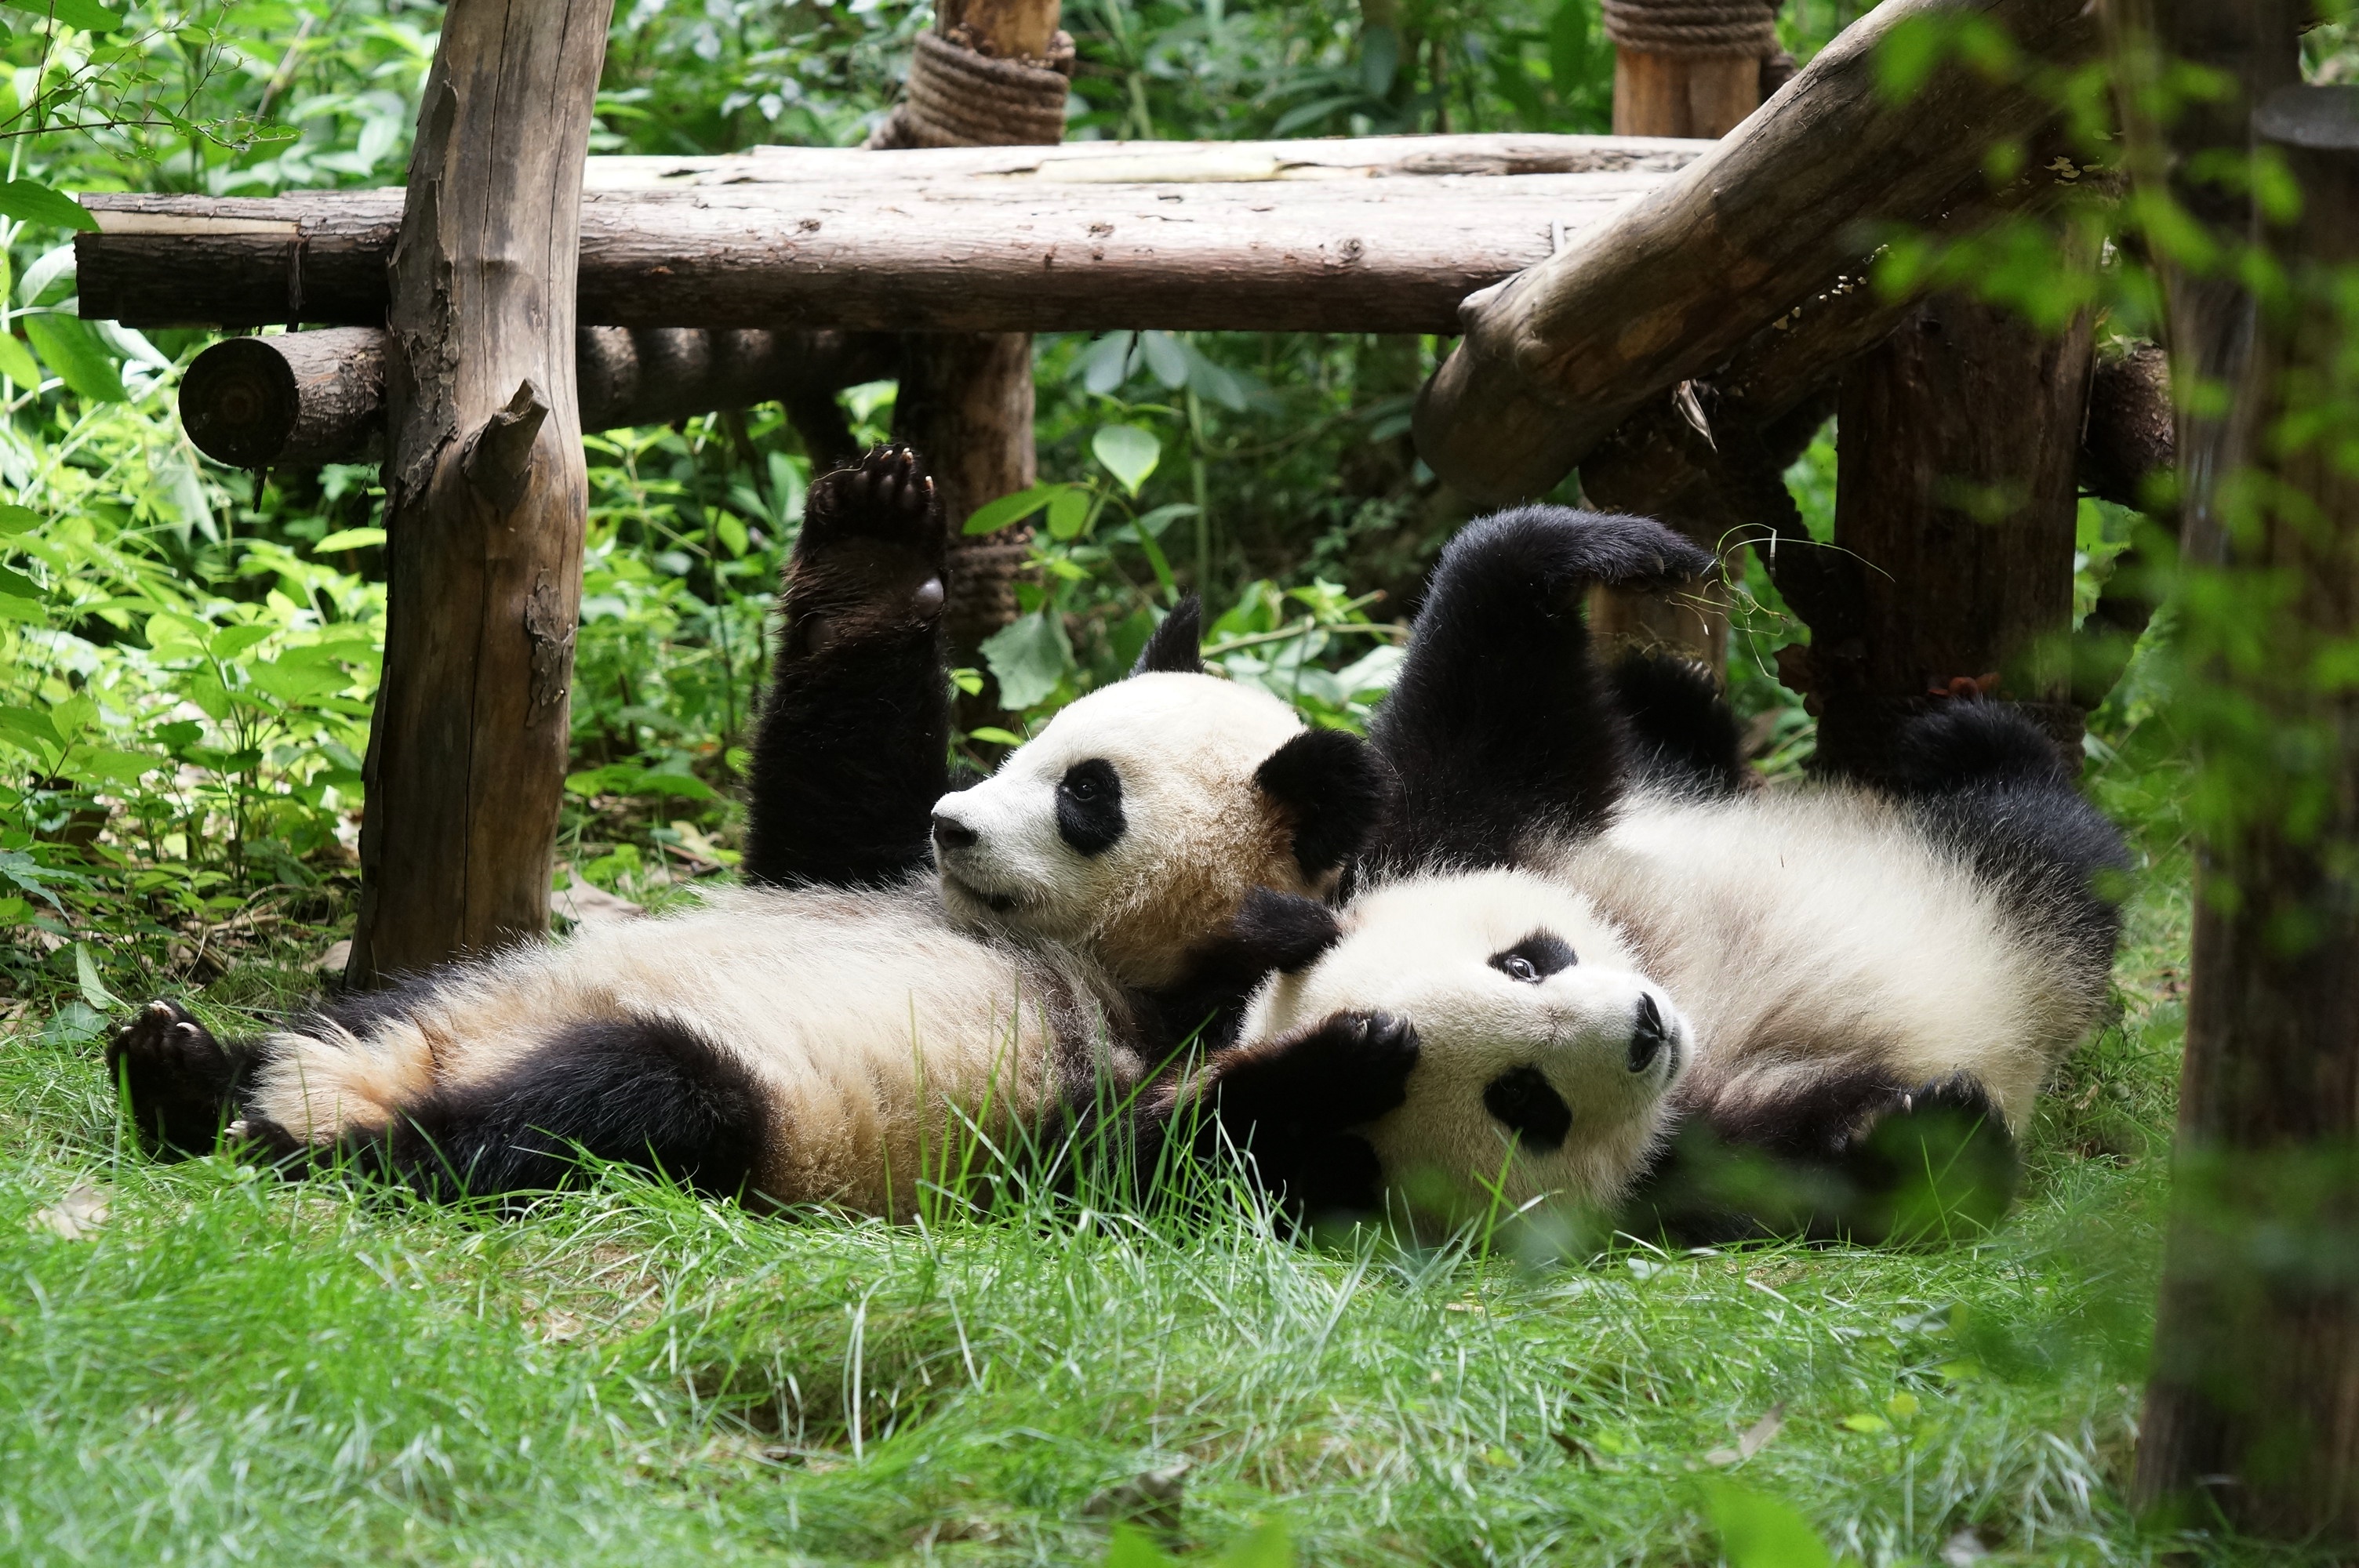
[[[951,535],[918,453],[880,446],[811,481],[786,573],[790,651],[941,618]]]

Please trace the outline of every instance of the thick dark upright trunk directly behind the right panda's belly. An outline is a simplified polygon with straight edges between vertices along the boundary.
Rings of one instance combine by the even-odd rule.
[[[1842,377],[1835,549],[1859,561],[1861,615],[1857,637],[1812,627],[1783,660],[1814,698],[1821,773],[1885,778],[1908,714],[1991,691],[2078,757],[2074,469],[2090,368],[2085,316],[2043,337],[1939,295]]]

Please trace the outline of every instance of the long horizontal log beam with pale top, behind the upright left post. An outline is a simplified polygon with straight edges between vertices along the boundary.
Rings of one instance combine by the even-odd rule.
[[[1368,137],[592,160],[580,321],[1453,332],[1465,295],[1548,259],[1564,236],[1656,189],[1703,146]],[[1526,167],[1545,172],[1514,172]],[[385,321],[399,191],[83,200],[101,226],[75,241],[83,316],[229,328]]]

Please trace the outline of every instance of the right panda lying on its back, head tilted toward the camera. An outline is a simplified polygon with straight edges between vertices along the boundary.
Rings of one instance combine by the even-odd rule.
[[[2118,835],[1998,703],[1913,719],[1882,790],[1736,788],[1706,679],[1590,660],[1564,585],[1623,533],[1531,509],[1451,545],[1411,648],[1522,627],[1548,681],[1507,660],[1453,710],[1380,714],[1406,806],[1359,896],[1156,1115],[1314,1212],[1878,1240],[1944,1219],[1908,1210],[1932,1162],[1951,1219],[1996,1217],[2107,1002]]]

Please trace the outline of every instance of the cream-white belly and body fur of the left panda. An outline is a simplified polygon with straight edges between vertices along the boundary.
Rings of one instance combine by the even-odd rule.
[[[436,1087],[493,1080],[571,1023],[661,1016],[769,1087],[764,1195],[906,1217],[920,1179],[958,1167],[970,1127],[1005,1141],[1038,1122],[1071,1049],[1059,1002],[1078,1004],[1104,1070],[1137,1078],[1106,1028],[1109,995],[1069,953],[955,929],[925,882],[738,891],[453,974],[366,1037],[271,1035],[250,1108],[326,1144]]]

